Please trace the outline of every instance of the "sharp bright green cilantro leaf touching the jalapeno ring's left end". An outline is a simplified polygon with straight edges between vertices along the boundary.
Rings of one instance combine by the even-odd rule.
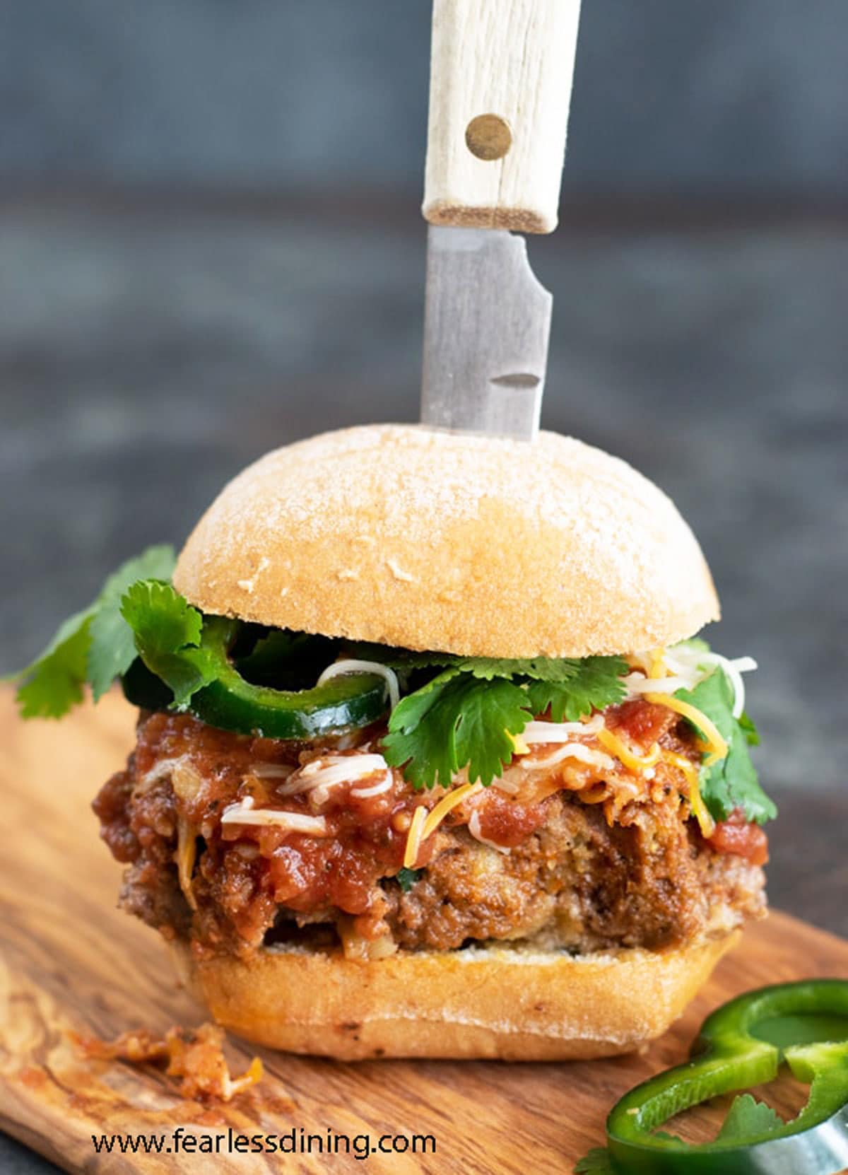
[[[142,579],[123,595],[121,616],[134,633],[141,659],[170,687],[175,707],[184,710],[216,674],[209,652],[198,647],[202,613],[170,584]]]

